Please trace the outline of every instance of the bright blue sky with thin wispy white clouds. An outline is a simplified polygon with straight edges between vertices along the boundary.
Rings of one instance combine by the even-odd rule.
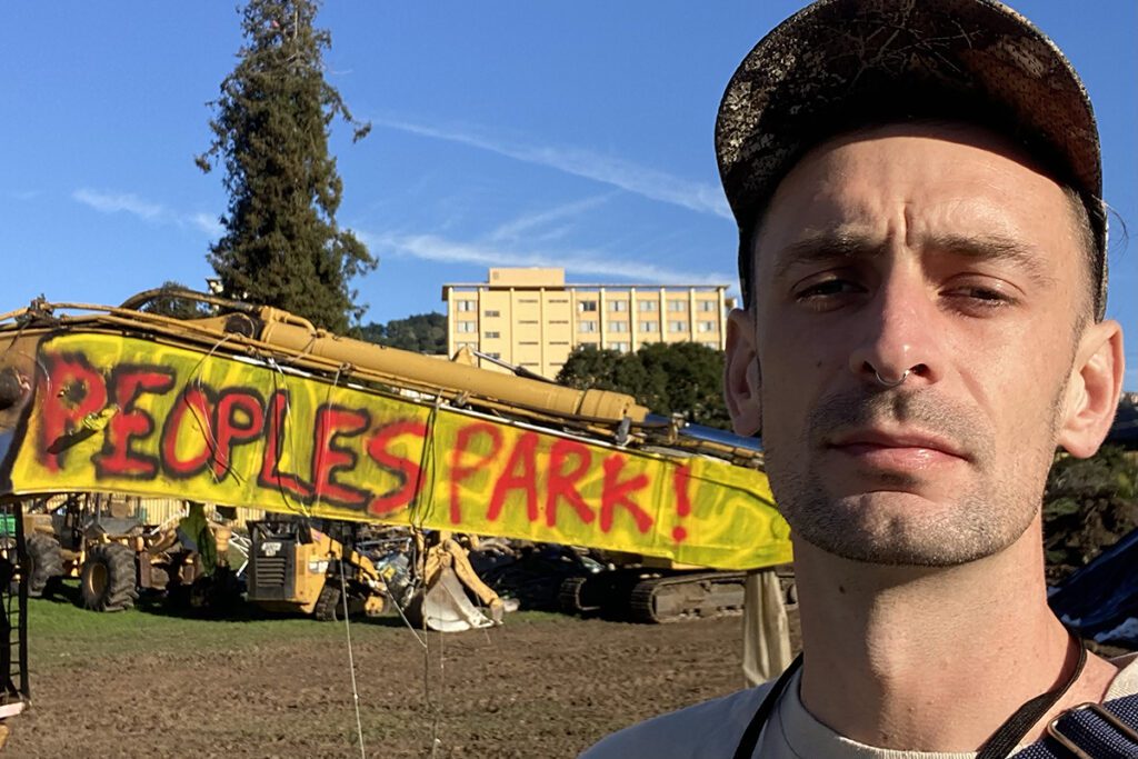
[[[233,2],[15,3],[0,25],[0,311],[201,287],[224,211],[206,102],[241,39]],[[379,256],[364,321],[442,311],[489,265],[571,281],[734,282],[712,151],[742,56],[798,0],[328,2],[328,77],[372,134],[332,149],[339,222]],[[1133,0],[1013,5],[1066,50],[1103,132],[1106,199],[1138,238]],[[1094,13],[1087,8],[1094,8]],[[1138,390],[1138,240],[1112,220],[1108,314]]]

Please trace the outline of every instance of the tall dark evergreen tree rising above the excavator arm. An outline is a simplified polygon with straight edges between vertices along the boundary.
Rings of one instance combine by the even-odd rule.
[[[363,308],[349,281],[376,259],[336,224],[343,183],[328,154],[331,122],[363,138],[339,92],[324,81],[331,35],[313,27],[318,0],[249,0],[240,60],[209,104],[214,139],[197,157],[225,168],[225,232],[209,263],[228,297],[286,308],[344,332]]]

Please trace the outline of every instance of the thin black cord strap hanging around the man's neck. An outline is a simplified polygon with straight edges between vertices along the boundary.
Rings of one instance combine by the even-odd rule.
[[[980,753],[976,754],[976,759],[1006,759],[1009,757],[1015,746],[1028,734],[1028,731],[1031,729],[1031,726],[1038,723],[1063,698],[1063,694],[1074,685],[1074,682],[1079,679],[1079,675],[1082,674],[1082,668],[1087,663],[1087,647],[1082,644],[1082,640],[1074,633],[1071,633],[1071,640],[1079,647],[1079,661],[1075,663],[1071,675],[1054,691],[1041,693],[1016,709],[1015,713],[1008,717],[992,736],[988,739],[980,749]],[[801,667],[802,654],[799,654],[790,663],[790,667],[786,668],[786,671],[778,677],[770,687],[770,691],[767,692],[767,696],[759,704],[754,716],[751,717],[751,721],[748,723],[747,729],[743,732],[743,737],[740,739],[739,745],[735,748],[734,759],[751,759],[754,756],[754,750],[759,746],[759,736],[770,719],[775,704],[782,698],[783,691],[790,684],[791,677]]]

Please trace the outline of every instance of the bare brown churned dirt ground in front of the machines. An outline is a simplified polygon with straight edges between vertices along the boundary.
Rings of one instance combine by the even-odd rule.
[[[5,756],[360,757],[344,626],[332,625],[226,630],[207,650],[174,640],[84,655],[80,633],[33,641],[33,708],[9,723]],[[737,690],[741,628],[512,614],[490,630],[430,634],[424,647],[395,618],[355,622],[366,756],[574,757]]]

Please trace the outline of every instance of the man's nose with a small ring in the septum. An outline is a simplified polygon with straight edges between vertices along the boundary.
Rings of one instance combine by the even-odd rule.
[[[860,320],[849,357],[857,377],[877,387],[940,379],[945,335],[918,267],[892,266],[873,299],[851,317]]]

